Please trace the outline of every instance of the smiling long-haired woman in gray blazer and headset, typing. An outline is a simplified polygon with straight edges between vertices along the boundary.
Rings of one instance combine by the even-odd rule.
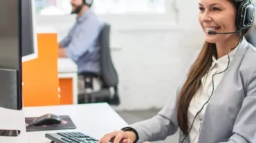
[[[256,48],[244,39],[253,16],[247,0],[199,0],[205,44],[176,96],[154,118],[99,142],[152,142],[178,129],[183,143],[256,142]]]

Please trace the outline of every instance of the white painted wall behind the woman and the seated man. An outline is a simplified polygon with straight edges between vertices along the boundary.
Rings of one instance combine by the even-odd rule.
[[[201,48],[197,2],[169,1],[166,15],[100,16],[111,23],[113,62],[120,78],[121,109],[161,108],[174,91],[192,54]],[[48,20],[51,19],[51,23]],[[63,37],[75,17],[37,17]]]

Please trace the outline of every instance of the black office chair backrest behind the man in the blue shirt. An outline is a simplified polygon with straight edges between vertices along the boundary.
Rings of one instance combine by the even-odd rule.
[[[100,44],[100,67],[103,83],[107,87],[114,87],[118,85],[118,74],[111,60],[110,25],[107,23],[104,23],[98,40]]]

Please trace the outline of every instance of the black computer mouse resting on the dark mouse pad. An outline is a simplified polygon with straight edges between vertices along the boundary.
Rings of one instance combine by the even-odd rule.
[[[41,126],[41,125],[52,125],[52,124],[60,124],[62,122],[62,118],[58,115],[54,115],[51,113],[42,115],[39,118],[36,118],[33,121],[33,125]]]

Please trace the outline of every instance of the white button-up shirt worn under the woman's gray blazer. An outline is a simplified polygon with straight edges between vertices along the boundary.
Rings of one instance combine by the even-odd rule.
[[[232,52],[230,52],[229,54],[230,63],[234,58],[236,51],[237,51],[237,48],[235,48],[235,50],[232,50]],[[207,102],[207,100],[210,98],[212,94],[212,75],[216,74],[214,75],[214,90],[215,90],[219,85],[221,78],[225,74],[225,72],[223,71],[228,66],[228,54],[226,56],[219,58],[218,60],[216,60],[216,58],[212,56],[212,60],[213,61],[212,61],[212,66],[210,67],[210,71],[201,79],[202,86],[199,88],[199,90],[196,92],[195,96],[192,98],[190,102],[190,107],[188,109],[189,129],[190,129],[190,126],[192,125],[192,122],[194,120],[196,113],[203,107],[203,104]],[[223,73],[217,74],[219,72],[223,72]],[[200,127],[201,127],[201,123],[203,122],[203,116],[205,114],[206,107],[207,107],[207,104],[205,104],[205,107],[203,107],[203,110],[199,113],[199,115],[196,116],[196,119],[194,120],[194,124],[189,134],[191,143],[197,143],[199,140]]]

